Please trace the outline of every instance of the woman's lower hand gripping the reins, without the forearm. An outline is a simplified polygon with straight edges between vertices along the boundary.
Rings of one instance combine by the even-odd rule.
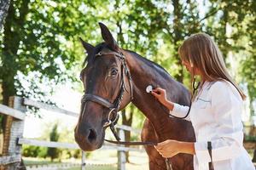
[[[181,152],[181,142],[168,139],[154,146],[161,156],[168,158]]]

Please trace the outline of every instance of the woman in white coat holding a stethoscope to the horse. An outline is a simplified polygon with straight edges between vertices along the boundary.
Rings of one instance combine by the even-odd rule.
[[[242,145],[241,110],[246,96],[230,77],[217,45],[207,34],[198,33],[185,40],[178,53],[192,80],[196,75],[201,77],[190,109],[166,99],[165,89],[155,88],[151,94],[172,116],[183,117],[190,110],[185,119],[192,122],[196,142],[168,139],[155,149],[165,158],[178,153],[195,155],[195,170],[208,170],[211,160],[215,170],[254,170]]]

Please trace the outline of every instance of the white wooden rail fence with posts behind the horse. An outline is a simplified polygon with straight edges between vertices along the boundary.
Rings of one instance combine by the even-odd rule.
[[[75,116],[75,117],[79,116],[78,113],[63,110],[58,107],[55,107],[54,105],[48,105],[42,102],[33,101],[31,99],[23,99],[17,96],[10,98],[9,106],[0,104],[0,113],[7,116],[12,116],[14,118],[11,125],[11,129],[10,129],[8,154],[7,156],[0,157],[0,169],[3,167],[4,169],[13,170],[13,169],[17,169],[20,166],[20,161],[22,157],[21,156],[22,144],[53,147],[53,148],[79,149],[78,144],[75,144],[75,143],[69,144],[69,143],[23,138],[24,121],[26,119],[26,114],[25,114],[26,106],[32,106],[32,107],[36,107],[38,109],[44,109],[47,111],[55,111],[57,113],[65,114],[67,116]],[[124,125],[117,125],[116,127],[119,128],[119,137],[121,139],[125,139],[125,131],[140,133],[139,130],[136,130]],[[118,170],[125,170],[125,151],[130,151],[130,150],[144,151],[143,149],[129,148],[123,145],[113,145],[113,144],[111,145],[104,144],[102,146],[102,150],[118,151]],[[82,170],[85,169],[84,151],[82,151],[81,169]]]

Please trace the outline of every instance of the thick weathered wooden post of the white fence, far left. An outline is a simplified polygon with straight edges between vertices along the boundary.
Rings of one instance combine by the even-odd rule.
[[[12,96],[9,98],[9,107],[12,107],[18,111],[22,111],[25,114],[26,107],[22,105],[22,98],[17,96]],[[13,118],[10,131],[9,131],[9,156],[20,156],[21,158],[21,145],[17,144],[19,138],[22,138],[24,130],[24,120],[18,120]],[[24,165],[23,165],[24,166]],[[7,165],[6,169],[15,170],[15,169],[26,169],[22,166],[21,159],[18,162],[11,163]]]

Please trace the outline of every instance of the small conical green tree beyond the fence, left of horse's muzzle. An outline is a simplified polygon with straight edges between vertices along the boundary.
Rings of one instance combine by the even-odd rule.
[[[52,128],[51,132],[49,133],[49,140],[50,141],[58,141],[60,135],[57,131],[58,124],[55,124]],[[57,148],[48,148],[47,155],[50,157],[50,161],[53,161],[55,158],[59,156],[59,150]]]

